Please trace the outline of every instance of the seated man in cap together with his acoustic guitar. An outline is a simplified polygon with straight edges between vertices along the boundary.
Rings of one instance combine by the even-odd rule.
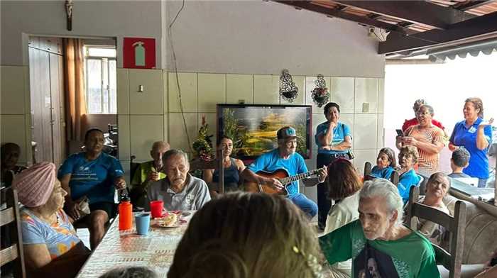
[[[285,195],[310,218],[317,214],[317,205],[299,192],[298,180],[303,179],[306,187],[324,182],[326,167],[307,172],[302,155],[295,152],[297,134],[295,128],[285,126],[277,133],[278,148],[258,157],[241,176],[246,191]],[[312,176],[317,176],[310,178]]]

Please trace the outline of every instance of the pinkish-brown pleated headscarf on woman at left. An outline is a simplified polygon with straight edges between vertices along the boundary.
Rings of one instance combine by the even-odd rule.
[[[34,208],[47,203],[55,179],[55,165],[51,162],[40,162],[17,174],[12,187],[17,190],[21,204]]]

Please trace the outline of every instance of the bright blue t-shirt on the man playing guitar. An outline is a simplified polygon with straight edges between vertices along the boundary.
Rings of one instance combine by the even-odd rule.
[[[256,173],[258,171],[264,170],[266,172],[273,172],[277,169],[285,169],[290,176],[295,174],[302,174],[307,172],[307,166],[305,165],[304,157],[295,152],[290,155],[287,159],[280,157],[280,151],[278,149],[271,150],[264,153],[260,157],[249,165],[249,169]],[[292,182],[287,186],[288,198],[298,194],[298,181]]]

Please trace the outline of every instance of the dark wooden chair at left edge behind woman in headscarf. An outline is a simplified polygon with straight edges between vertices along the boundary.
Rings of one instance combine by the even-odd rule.
[[[0,190],[1,206],[0,226],[6,228],[11,244],[9,247],[0,250],[0,266],[6,263],[13,263],[13,276],[26,277],[24,267],[23,238],[21,236],[20,213],[17,199],[17,191],[12,187]],[[3,208],[3,207],[6,208]],[[2,235],[2,239],[8,238]]]

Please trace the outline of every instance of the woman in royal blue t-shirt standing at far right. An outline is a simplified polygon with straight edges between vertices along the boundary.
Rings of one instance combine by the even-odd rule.
[[[462,172],[478,178],[478,187],[486,187],[488,179],[488,157],[486,151],[492,142],[493,118],[484,121],[484,104],[481,99],[472,97],[464,103],[464,121],[456,123],[449,139],[449,149],[459,147],[468,150],[470,158],[468,167]]]

